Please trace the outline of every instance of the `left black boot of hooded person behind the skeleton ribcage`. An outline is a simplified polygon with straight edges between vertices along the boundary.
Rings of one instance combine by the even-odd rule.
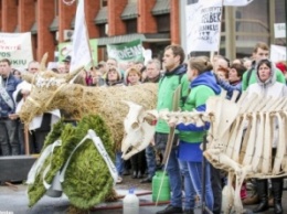
[[[261,213],[267,211],[268,206],[268,183],[266,179],[257,180],[257,193],[259,195],[261,203],[253,210],[253,213]]]

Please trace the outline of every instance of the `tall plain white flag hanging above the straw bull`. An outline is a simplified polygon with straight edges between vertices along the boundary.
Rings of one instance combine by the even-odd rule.
[[[85,6],[84,0],[78,0],[75,31],[73,34],[73,53],[70,72],[78,68],[79,66],[86,66],[92,62],[88,33],[85,20]]]

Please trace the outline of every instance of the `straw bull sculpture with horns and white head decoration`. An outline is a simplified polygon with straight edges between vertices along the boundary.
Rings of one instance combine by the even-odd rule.
[[[124,118],[128,114],[128,106],[123,100],[135,101],[145,109],[153,109],[157,103],[157,84],[114,87],[70,84],[78,72],[68,75],[50,71],[35,75],[23,74],[23,78],[32,84],[32,90],[20,110],[21,120],[30,124],[35,116],[53,109],[63,109],[76,120],[86,114],[98,114],[110,128],[116,149],[120,149]],[[137,147],[139,145],[134,145],[128,152],[138,151]]]

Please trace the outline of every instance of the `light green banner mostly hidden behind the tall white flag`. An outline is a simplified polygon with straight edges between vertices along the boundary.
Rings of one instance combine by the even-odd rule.
[[[94,61],[94,64],[97,65],[97,39],[89,40],[89,47],[92,51],[92,57]],[[62,62],[67,55],[72,55],[72,42],[63,42],[59,43],[57,45],[59,50],[59,61]]]

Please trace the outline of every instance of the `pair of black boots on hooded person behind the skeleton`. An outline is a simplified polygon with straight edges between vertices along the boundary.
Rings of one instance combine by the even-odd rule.
[[[269,208],[268,205],[268,182],[267,179],[257,180],[257,191],[261,199],[259,205],[253,210],[254,213],[261,213]],[[283,179],[272,179],[272,192],[274,195],[274,213],[281,214],[281,195],[283,195]]]

